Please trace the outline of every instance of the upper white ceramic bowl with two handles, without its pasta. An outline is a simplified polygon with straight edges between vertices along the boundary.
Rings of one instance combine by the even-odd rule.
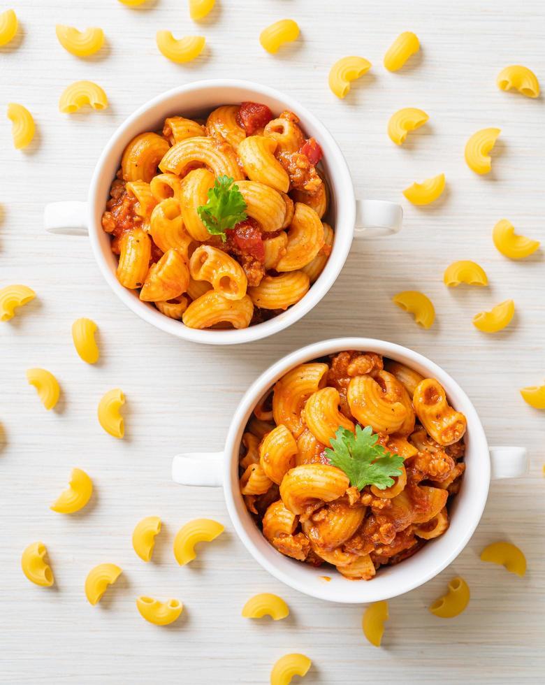
[[[143,131],[162,128],[166,117],[183,114],[188,117],[205,116],[221,104],[259,101],[273,110],[292,110],[301,120],[307,136],[314,136],[324,151],[322,162],[331,189],[330,222],[335,229],[333,251],[326,268],[305,297],[282,314],[247,329],[198,331],[189,329],[179,321],[169,319],[151,303],[140,301],[136,291],[127,290],[115,275],[117,257],[110,249],[110,236],[101,226],[101,217],[108,200],[110,185],[119,168],[127,143]],[[401,227],[402,209],[391,202],[358,201],[358,222],[365,229],[364,235],[395,233]],[[240,80],[197,81],[170,90],[136,110],[110,138],[94,170],[89,199],[82,202],[55,202],[45,207],[45,229],[52,233],[89,233],[96,261],[115,294],[136,315],[158,329],[172,333],[178,338],[196,343],[229,345],[259,340],[282,331],[309,312],[327,293],[339,275],[354,238],[356,224],[356,200],[354,185],[347,163],[333,136],[300,103],[272,88]]]

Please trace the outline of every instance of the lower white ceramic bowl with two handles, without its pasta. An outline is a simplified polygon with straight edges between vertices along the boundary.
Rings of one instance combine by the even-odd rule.
[[[458,495],[453,498],[450,526],[414,556],[398,565],[381,568],[375,578],[349,581],[329,567],[312,568],[274,549],[247,512],[238,484],[240,440],[256,403],[291,368],[344,349],[377,352],[399,361],[443,385],[449,402],[467,417],[466,470]],[[492,465],[492,470],[491,470]],[[231,421],[226,445],[218,454],[184,454],[173,460],[173,479],[181,484],[223,486],[235,532],[256,561],[286,585],[307,595],[333,602],[368,603],[401,595],[433,578],[460,554],[470,540],[486,504],[492,478],[525,474],[528,457],[521,447],[488,447],[484,429],[470,399],[446,371],[407,347],[370,338],[337,338],[314,343],[277,361],[248,389]],[[324,582],[324,573],[331,577]]]

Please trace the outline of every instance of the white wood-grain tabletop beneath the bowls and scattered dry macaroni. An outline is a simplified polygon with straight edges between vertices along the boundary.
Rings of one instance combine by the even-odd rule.
[[[10,122],[0,118],[0,286],[25,283],[38,297],[0,325],[0,681],[257,685],[268,682],[279,656],[302,651],[313,661],[310,684],[543,682],[544,415],[518,395],[545,374],[543,255],[508,261],[493,247],[491,229],[507,218],[545,240],[543,97],[532,101],[495,86],[500,69],[517,63],[545,86],[545,7],[539,0],[516,8],[507,0],[217,4],[196,27],[183,0],[150,0],[139,10],[117,0],[14,3],[22,31],[0,49],[1,109],[23,103],[38,135],[27,152],[13,150]],[[257,37],[286,16],[299,22],[301,39],[273,57]],[[103,27],[107,48],[86,61],[72,57],[57,43],[56,23]],[[202,33],[207,48],[193,64],[171,64],[156,48],[158,29]],[[388,73],[382,57],[404,30],[419,36],[421,55],[402,73]],[[328,69],[349,54],[374,66],[339,101],[328,90]],[[170,87],[217,76],[264,82],[314,110],[344,150],[358,194],[400,201],[413,180],[443,171],[448,181],[444,199],[430,208],[403,201],[399,238],[356,241],[337,284],[303,321],[242,348],[198,347],[154,330],[108,289],[86,238],[47,236],[41,228],[45,203],[85,199],[99,152],[132,110]],[[59,94],[82,78],[99,82],[110,108],[61,115]],[[398,148],[386,122],[402,106],[423,108],[430,122]],[[488,126],[502,136],[493,173],[481,178],[465,166],[463,147]],[[478,261],[490,287],[447,290],[442,273],[454,259]],[[413,288],[435,303],[429,331],[390,302]],[[487,337],[473,328],[474,313],[511,297],[517,315],[509,329]],[[82,316],[100,327],[96,367],[72,346],[71,324]],[[526,445],[532,456],[528,477],[493,484],[481,525],[451,568],[391,600],[382,649],[365,642],[362,607],[320,603],[261,570],[235,538],[220,491],[170,482],[171,456],[219,448],[242,392],[270,363],[315,340],[349,335],[430,356],[470,394],[491,443]],[[59,378],[59,410],[41,407],[25,378],[32,366]],[[96,421],[96,403],[112,387],[126,393],[125,440],[110,438]],[[73,466],[92,475],[96,495],[80,514],[64,517],[48,507]],[[131,531],[151,514],[163,519],[163,532],[146,565],[131,548]],[[224,522],[226,533],[179,568],[173,535],[201,516]],[[502,539],[525,552],[525,578],[479,561],[484,545]],[[34,540],[48,547],[54,589],[22,575],[21,551]],[[103,561],[124,573],[91,607],[83,582]],[[427,607],[458,574],[470,584],[470,606],[451,621],[437,619]],[[284,597],[289,619],[242,619],[243,603],[259,591]],[[179,598],[182,619],[166,629],[146,623],[135,607],[142,593]]]

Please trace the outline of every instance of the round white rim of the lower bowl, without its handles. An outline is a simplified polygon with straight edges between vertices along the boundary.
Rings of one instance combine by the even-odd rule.
[[[354,587],[354,598],[343,598],[334,596],[334,593],[331,592],[332,588],[326,583],[324,583],[324,586],[318,586],[314,588],[310,587],[310,585],[307,585],[304,582],[294,580],[292,577],[290,577],[289,573],[286,573],[284,570],[277,568],[277,566],[274,564],[271,564],[265,558],[265,556],[261,554],[261,551],[258,549],[258,547],[254,545],[254,542],[252,542],[250,535],[246,531],[245,524],[243,524],[242,520],[238,516],[237,503],[235,502],[235,497],[240,497],[240,493],[238,491],[238,468],[235,468],[236,465],[234,455],[238,455],[238,447],[240,445],[242,433],[244,432],[247,420],[252,414],[252,410],[254,409],[257,401],[259,401],[259,398],[261,398],[264,392],[268,388],[272,387],[273,384],[289,369],[298,366],[300,363],[312,361],[312,359],[318,359],[326,354],[342,352],[346,349],[360,349],[362,351],[378,352],[379,354],[388,356],[389,359],[401,361],[402,363],[416,364],[416,366],[420,365],[421,368],[426,369],[426,371],[430,373],[430,377],[436,377],[439,382],[444,384],[447,395],[456,393],[458,396],[458,401],[464,403],[464,413],[467,418],[467,432],[470,433],[472,441],[475,441],[476,443],[474,449],[482,452],[483,454],[482,464],[479,466],[479,468],[482,469],[480,500],[473,503],[474,513],[472,522],[465,528],[464,535],[460,536],[456,542],[456,545],[451,548],[448,556],[444,555],[444,557],[441,560],[438,560],[435,565],[430,565],[428,572],[421,575],[417,579],[411,579],[410,577],[407,577],[405,582],[399,582],[398,580],[395,584],[395,587],[392,587],[391,590],[386,592],[382,592],[381,595],[377,597],[370,596],[372,593],[372,587],[369,585],[372,584],[373,581],[370,581],[369,583],[362,581],[362,584],[359,586],[357,583],[351,582],[351,586]],[[407,361],[408,359],[410,359],[410,361]],[[386,600],[405,594],[406,592],[425,584],[428,582],[428,580],[435,577],[442,570],[444,570],[446,566],[452,563],[460,554],[460,552],[463,551],[467,545],[467,542],[469,542],[475,529],[479,525],[479,521],[481,520],[484,512],[484,507],[486,506],[491,479],[490,452],[488,449],[488,440],[486,439],[486,434],[481,424],[481,419],[479,419],[479,415],[477,414],[477,410],[474,408],[472,401],[456,382],[456,380],[454,380],[449,373],[446,373],[446,371],[438,366],[435,362],[431,361],[426,356],[423,356],[423,354],[415,352],[409,347],[403,347],[402,345],[398,345],[396,343],[388,343],[386,340],[354,337],[331,338],[329,340],[323,340],[318,343],[306,345],[305,347],[301,347],[295,352],[291,352],[290,354],[282,357],[282,359],[279,359],[279,361],[273,363],[272,366],[265,370],[249,387],[240,401],[237,409],[235,410],[233,417],[234,420],[231,423],[231,428],[228,432],[224,452],[224,496],[226,499],[229,517],[233,522],[233,526],[235,527],[239,538],[242,540],[246,549],[250,554],[252,554],[254,559],[264,569],[268,570],[268,572],[270,572],[270,574],[275,578],[306,595],[337,603],[363,604]],[[254,525],[253,521],[252,525]],[[400,567],[398,566],[398,568]],[[365,592],[365,590],[367,590],[367,592]]]

